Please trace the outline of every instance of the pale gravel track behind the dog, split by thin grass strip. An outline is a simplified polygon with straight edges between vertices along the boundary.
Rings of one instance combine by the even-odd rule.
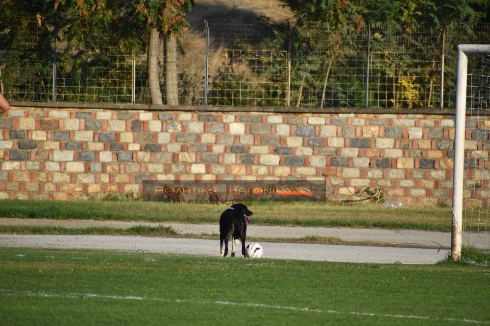
[[[216,234],[216,240],[162,238],[115,235],[15,235],[0,234],[0,247],[131,250],[172,254],[218,256],[220,254],[219,226],[211,224],[135,223],[119,221],[49,220],[0,218],[0,225],[55,225],[67,228],[113,227],[135,225],[172,226],[183,234]],[[254,237],[298,238],[307,235],[334,236],[347,241],[378,241],[405,245],[400,247],[319,245],[303,243],[261,242],[265,258],[339,261],[357,263],[434,264],[448,255],[450,233],[427,231],[392,231],[349,228],[306,228],[254,226],[247,228]],[[432,248],[413,248],[413,245]],[[231,247],[231,243],[230,243]],[[231,259],[231,258],[226,258]],[[235,259],[235,258],[233,258]]]

